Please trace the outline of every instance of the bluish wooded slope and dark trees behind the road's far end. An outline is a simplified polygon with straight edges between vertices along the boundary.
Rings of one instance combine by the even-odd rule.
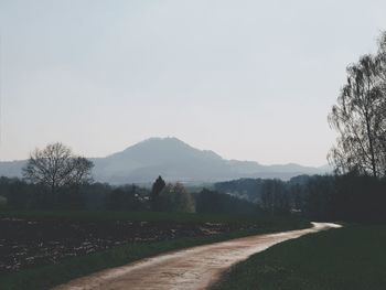
[[[369,175],[301,175],[290,181],[236,180],[215,190],[254,201],[271,214],[314,221],[386,222],[386,179]]]

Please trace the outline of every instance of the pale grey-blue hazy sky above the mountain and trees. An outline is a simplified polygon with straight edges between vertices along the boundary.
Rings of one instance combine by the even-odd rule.
[[[384,0],[0,0],[0,161],[176,137],[226,159],[323,165],[345,67]]]

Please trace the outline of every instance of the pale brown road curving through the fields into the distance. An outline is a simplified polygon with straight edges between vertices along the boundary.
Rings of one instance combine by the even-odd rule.
[[[143,259],[69,281],[54,290],[197,290],[206,289],[232,265],[275,244],[340,225],[313,223],[312,228],[267,234],[199,246]]]

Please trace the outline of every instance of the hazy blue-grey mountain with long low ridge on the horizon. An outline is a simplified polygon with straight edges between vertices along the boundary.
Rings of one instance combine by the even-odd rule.
[[[150,138],[121,152],[92,159],[95,180],[114,184],[149,183],[158,175],[168,181],[204,183],[239,178],[278,178],[325,173],[323,168],[299,164],[261,165],[226,160],[208,150],[195,149],[176,138]],[[0,175],[20,176],[25,161],[0,162]]]

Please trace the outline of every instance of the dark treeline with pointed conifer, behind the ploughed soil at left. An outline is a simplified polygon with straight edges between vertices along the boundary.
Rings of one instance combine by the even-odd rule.
[[[152,189],[85,183],[55,192],[44,184],[0,178],[0,210],[105,210],[197,213],[256,213],[258,205],[210,190],[189,192],[160,176]]]

